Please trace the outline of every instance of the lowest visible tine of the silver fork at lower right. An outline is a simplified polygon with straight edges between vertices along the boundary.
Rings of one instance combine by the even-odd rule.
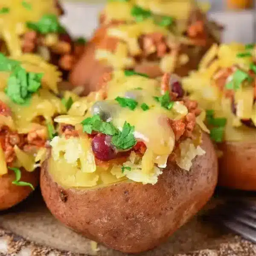
[[[224,221],[223,224],[230,230],[233,230],[235,233],[238,233],[239,235],[244,237],[245,239],[250,240],[253,243],[256,243],[256,230],[253,230],[235,220]]]

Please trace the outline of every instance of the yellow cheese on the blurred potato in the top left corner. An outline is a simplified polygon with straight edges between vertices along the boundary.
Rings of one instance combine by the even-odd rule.
[[[31,8],[26,8],[24,5]],[[57,15],[55,0],[0,0],[0,38],[12,56],[21,55],[20,35],[27,31],[26,22],[37,22],[44,14]]]

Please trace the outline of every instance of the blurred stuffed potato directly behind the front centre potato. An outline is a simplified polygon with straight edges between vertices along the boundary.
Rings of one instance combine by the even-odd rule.
[[[151,78],[166,72],[186,76],[219,41],[220,31],[189,0],[110,1],[70,81],[86,85],[86,94],[111,70],[134,70]]]

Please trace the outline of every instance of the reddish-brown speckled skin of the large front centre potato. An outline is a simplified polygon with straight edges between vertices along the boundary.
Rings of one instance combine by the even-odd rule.
[[[212,142],[190,171],[169,165],[157,184],[118,183],[99,189],[65,189],[41,170],[41,191],[58,220],[89,239],[124,253],[140,253],[165,241],[211,197],[218,176]]]

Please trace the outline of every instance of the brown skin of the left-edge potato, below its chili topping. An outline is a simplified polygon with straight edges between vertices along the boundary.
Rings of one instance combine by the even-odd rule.
[[[32,192],[29,186],[16,186],[12,184],[15,180],[15,173],[9,171],[8,174],[0,177],[0,210],[5,210],[23,201]],[[36,187],[39,183],[39,171],[26,172],[21,169],[21,180],[31,183]]]

